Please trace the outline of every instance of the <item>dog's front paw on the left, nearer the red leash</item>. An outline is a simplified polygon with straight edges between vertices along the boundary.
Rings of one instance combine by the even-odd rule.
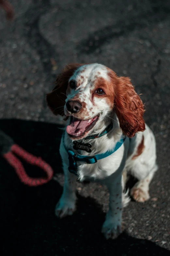
[[[76,210],[76,200],[69,198],[60,198],[55,207],[55,215],[59,218],[72,215]]]

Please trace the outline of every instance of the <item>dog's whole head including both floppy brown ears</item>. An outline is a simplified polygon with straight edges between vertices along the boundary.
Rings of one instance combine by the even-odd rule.
[[[125,135],[145,130],[143,104],[130,79],[101,64],[66,66],[47,103],[55,115],[70,116],[66,130],[73,140],[86,137],[113,110]]]

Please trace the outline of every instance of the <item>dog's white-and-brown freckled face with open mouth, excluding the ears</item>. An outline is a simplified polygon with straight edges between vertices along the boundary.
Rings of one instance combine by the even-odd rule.
[[[64,113],[71,116],[66,129],[71,137],[87,136],[113,109],[114,90],[107,73],[103,65],[90,64],[78,68],[70,77]]]

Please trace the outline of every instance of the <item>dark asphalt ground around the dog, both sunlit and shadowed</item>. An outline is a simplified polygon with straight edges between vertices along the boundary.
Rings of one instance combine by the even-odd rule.
[[[0,129],[47,161],[54,179],[27,187],[1,158],[1,255],[170,255],[170,2],[10,3],[13,22],[0,9]],[[143,94],[145,120],[156,137],[159,170],[151,198],[124,209],[126,229],[115,241],[100,233],[108,209],[100,184],[77,183],[77,212],[54,216],[64,181],[58,152],[63,120],[52,115],[45,95],[70,62],[99,62],[129,76]]]

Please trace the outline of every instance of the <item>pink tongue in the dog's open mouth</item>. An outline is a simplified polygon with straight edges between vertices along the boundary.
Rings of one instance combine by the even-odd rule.
[[[66,131],[70,135],[77,135],[79,132],[84,132],[85,127],[88,123],[88,120],[81,121],[78,119],[74,119],[71,121],[70,125],[67,126]]]

